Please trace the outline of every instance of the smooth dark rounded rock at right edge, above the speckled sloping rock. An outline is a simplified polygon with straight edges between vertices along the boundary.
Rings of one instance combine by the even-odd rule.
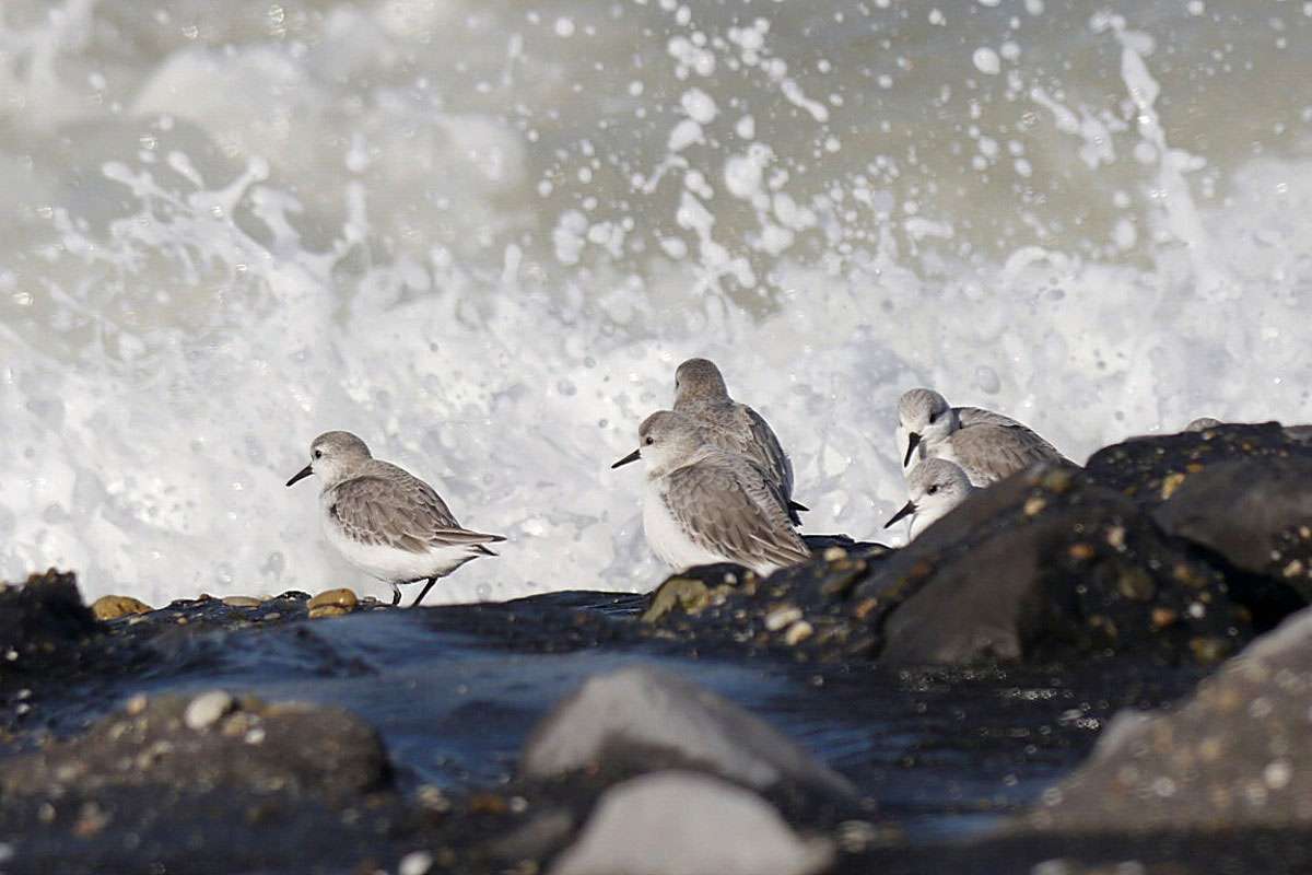
[[[1278,615],[1312,601],[1312,455],[1208,466],[1152,516],[1228,571],[1279,584],[1244,581],[1274,600]]]

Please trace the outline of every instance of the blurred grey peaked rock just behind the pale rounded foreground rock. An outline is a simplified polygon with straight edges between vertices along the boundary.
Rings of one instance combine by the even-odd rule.
[[[605,762],[642,770],[653,750],[758,790],[787,781],[827,795],[854,792],[850,782],[769,724],[651,666],[590,678],[533,731],[520,769],[530,778]]]

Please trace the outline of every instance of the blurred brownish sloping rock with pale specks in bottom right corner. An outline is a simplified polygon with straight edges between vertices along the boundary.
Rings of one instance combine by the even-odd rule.
[[[1022,829],[1312,826],[1312,611],[1227,662],[1182,706],[1139,716],[1043,794]]]

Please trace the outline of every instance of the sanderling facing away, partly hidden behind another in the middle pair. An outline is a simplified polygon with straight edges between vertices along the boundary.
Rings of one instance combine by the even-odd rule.
[[[674,412],[690,416],[705,429],[711,443],[752,459],[779,487],[789,518],[800,525],[798,510],[807,510],[792,500],[792,462],[779,446],[770,424],[747,404],[729,397],[724,376],[715,362],[690,358],[674,371]]]

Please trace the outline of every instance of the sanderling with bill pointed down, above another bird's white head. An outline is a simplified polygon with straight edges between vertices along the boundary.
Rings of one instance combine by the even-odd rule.
[[[960,466],[971,484],[987,487],[1035,462],[1073,464],[1015,420],[977,407],[949,407],[938,392],[913,388],[897,403],[904,472],[913,458],[939,458]],[[917,453],[918,451],[918,453]]]

